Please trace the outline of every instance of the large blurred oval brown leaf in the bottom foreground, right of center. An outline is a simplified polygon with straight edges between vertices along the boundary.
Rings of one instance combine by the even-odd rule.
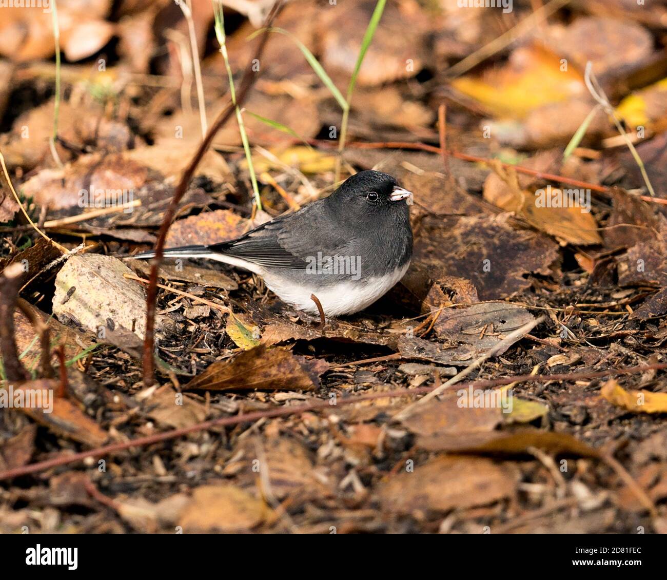
[[[443,512],[514,497],[520,471],[512,463],[478,457],[436,457],[405,471],[378,491],[385,511]]]

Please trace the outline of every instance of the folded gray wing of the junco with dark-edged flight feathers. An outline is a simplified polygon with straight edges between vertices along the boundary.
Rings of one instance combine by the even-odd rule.
[[[236,240],[209,246],[214,252],[241,258],[259,266],[305,269],[307,258],[346,254],[352,240],[336,228],[324,200],[295,214],[261,224]]]

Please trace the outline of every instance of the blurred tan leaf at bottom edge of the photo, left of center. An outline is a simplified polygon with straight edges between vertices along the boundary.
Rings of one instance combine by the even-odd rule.
[[[202,485],[181,511],[177,522],[189,532],[241,532],[253,529],[271,510],[247,491],[233,485]]]

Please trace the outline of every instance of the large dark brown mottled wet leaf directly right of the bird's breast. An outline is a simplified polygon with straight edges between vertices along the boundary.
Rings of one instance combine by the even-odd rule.
[[[451,220],[425,218],[413,261],[431,278],[468,278],[481,300],[507,298],[530,288],[531,272],[550,274],[558,246],[544,234],[515,229],[510,214]]]

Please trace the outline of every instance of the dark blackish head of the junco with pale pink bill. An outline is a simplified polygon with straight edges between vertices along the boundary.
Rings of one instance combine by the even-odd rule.
[[[400,188],[389,174],[379,171],[362,171],[348,178],[329,200],[348,212],[361,214],[408,214],[406,198],[410,192]],[[408,200],[409,201],[409,200]]]

